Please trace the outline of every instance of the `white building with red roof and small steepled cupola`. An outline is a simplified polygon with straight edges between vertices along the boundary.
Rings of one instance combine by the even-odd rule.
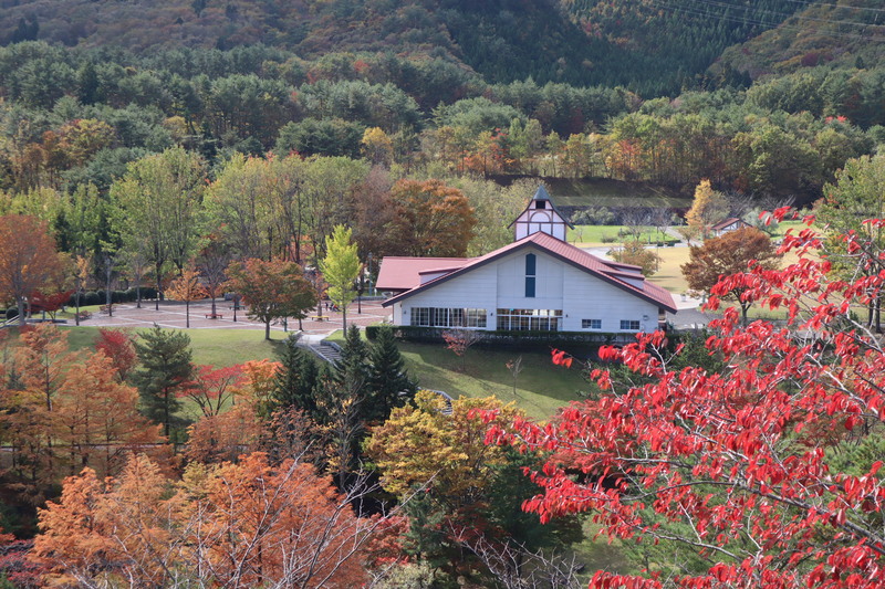
[[[637,266],[565,242],[568,221],[543,187],[511,224],[516,241],[479,257],[385,257],[378,290],[395,325],[486,330],[636,333],[675,313]]]

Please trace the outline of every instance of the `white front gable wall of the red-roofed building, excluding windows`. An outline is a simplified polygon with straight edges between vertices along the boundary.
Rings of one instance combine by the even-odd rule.
[[[525,297],[525,255],[534,253],[535,296]],[[583,332],[581,319],[602,319],[601,332],[620,332],[621,319],[657,328],[658,308],[540,250],[527,249],[450,278],[394,305],[393,320],[409,325],[410,308],[485,308],[496,328],[499,308],[562,309],[565,332]]]

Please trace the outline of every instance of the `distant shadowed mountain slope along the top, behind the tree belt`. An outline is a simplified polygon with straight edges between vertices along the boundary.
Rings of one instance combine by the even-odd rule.
[[[789,0],[4,0],[0,42],[46,40],[134,52],[263,43],[330,52],[445,56],[487,82],[624,85],[645,96],[691,86],[733,43],[775,27]],[[137,27],[133,27],[137,23]],[[739,81],[726,72],[723,80]]]

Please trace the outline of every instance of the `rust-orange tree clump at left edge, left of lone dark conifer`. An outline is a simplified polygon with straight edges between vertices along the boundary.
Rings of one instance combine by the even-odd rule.
[[[41,324],[21,335],[11,356],[0,423],[11,445],[11,473],[28,501],[42,502],[65,466],[106,473],[134,448],[163,442],[138,414],[136,390],[123,383],[104,351],[71,353],[65,332]]]

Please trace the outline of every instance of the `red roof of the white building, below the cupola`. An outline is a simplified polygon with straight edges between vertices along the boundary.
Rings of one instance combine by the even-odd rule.
[[[404,298],[408,298],[418,292],[431,288],[441,282],[455,276],[459,276],[465,272],[469,272],[475,267],[485,265],[493,260],[507,255],[508,253],[531,245],[534,245],[540,250],[553,255],[554,257],[559,257],[560,260],[579,267],[580,270],[589,272],[590,274],[593,274],[605,282],[617,286],[618,288],[627,291],[639,298],[655,303],[671,313],[676,312],[676,305],[673,302],[673,295],[670,295],[669,292],[665,291],[660,286],[652,284],[645,280],[645,277],[639,273],[639,269],[637,266],[607,262],[601,257],[596,257],[595,255],[585,252],[584,250],[581,250],[580,248],[575,248],[570,243],[560,241],[556,238],[540,231],[532,233],[531,235],[519,241],[504,245],[503,248],[494,250],[493,252],[487,253],[486,255],[472,259],[462,259],[460,260],[460,265],[455,263],[458,261],[458,259],[452,257],[385,257],[382,262],[381,272],[378,273],[378,288],[382,291],[406,292],[388,298],[384,302],[384,306],[386,307],[393,305],[394,303],[403,301]],[[388,266],[389,271],[384,276],[384,281],[382,281],[382,273],[385,272],[385,264],[388,260],[392,260],[392,264]],[[420,273],[427,273],[428,271],[433,270],[440,272],[450,270],[450,272],[421,284]],[[641,280],[642,286],[634,286],[625,278]],[[388,286],[383,286],[382,284],[387,284]],[[395,284],[399,286],[393,286]],[[410,284],[410,286],[407,286],[407,284]]]

